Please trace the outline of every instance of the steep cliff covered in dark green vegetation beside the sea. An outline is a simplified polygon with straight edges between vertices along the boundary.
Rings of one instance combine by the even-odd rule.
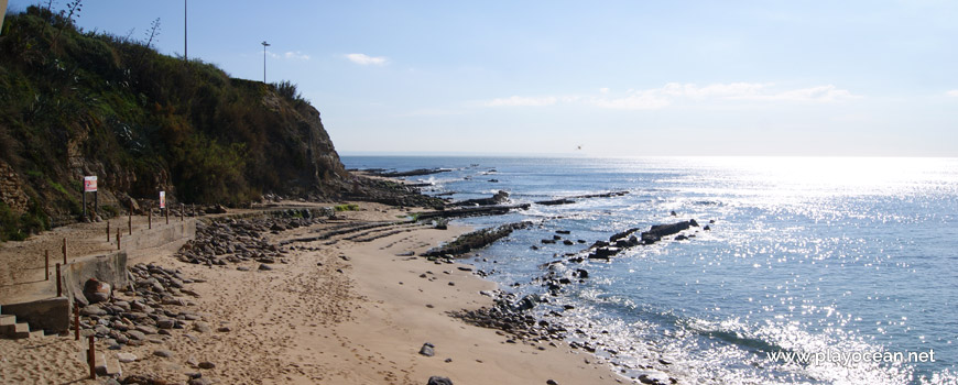
[[[0,35],[3,239],[100,215],[130,198],[242,205],[265,194],[333,199],[356,183],[294,85],[229,77],[149,42],[84,32],[31,7]],[[349,180],[349,182],[347,182]]]

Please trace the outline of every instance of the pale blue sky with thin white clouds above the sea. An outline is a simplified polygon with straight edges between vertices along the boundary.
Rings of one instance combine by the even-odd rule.
[[[270,43],[266,80],[340,154],[958,156],[950,0],[186,7],[190,58],[262,80]],[[182,55],[184,2],[87,0],[77,22],[145,41],[157,18]]]

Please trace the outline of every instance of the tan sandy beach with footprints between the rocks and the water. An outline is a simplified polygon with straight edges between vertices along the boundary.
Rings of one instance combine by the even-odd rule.
[[[358,204],[345,222],[396,220],[402,211]],[[303,239],[323,228],[268,234],[271,243]],[[148,338],[139,346],[108,350],[120,378],[141,375],[167,384],[612,384],[609,366],[564,343],[507,342],[508,334],[453,318],[449,311],[492,305],[494,285],[466,265],[409,256],[469,229],[412,226],[371,241],[339,239],[289,243],[283,261],[259,270],[253,261],[222,266],[190,264],[171,253],[130,262],[178,270],[202,280],[182,308],[202,321]],[[366,241],[366,240],[362,240]],[[402,254],[398,255],[398,254]],[[196,323],[208,326],[197,328]],[[431,343],[435,355],[420,354]],[[96,384],[87,377],[81,343],[70,337],[0,340],[0,383]],[[155,353],[164,351],[160,356]],[[129,356],[127,356],[129,360]]]

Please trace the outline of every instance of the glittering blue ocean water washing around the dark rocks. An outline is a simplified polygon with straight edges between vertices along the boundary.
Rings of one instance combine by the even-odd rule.
[[[510,194],[562,206],[457,222],[536,226],[470,253],[488,279],[548,298],[622,375],[704,384],[958,383],[958,160],[344,156],[456,200]],[[494,182],[492,182],[494,180]],[[450,194],[451,193],[451,194]],[[675,216],[672,212],[675,212]],[[544,263],[635,227],[696,219],[688,240],[629,249],[548,295]],[[711,222],[714,221],[714,222]],[[704,230],[708,224],[710,230]],[[562,242],[543,244],[557,230]],[[579,243],[583,240],[586,243]],[[535,245],[536,248],[532,248]],[[569,308],[569,309],[566,309]],[[549,312],[562,314],[551,317]]]

